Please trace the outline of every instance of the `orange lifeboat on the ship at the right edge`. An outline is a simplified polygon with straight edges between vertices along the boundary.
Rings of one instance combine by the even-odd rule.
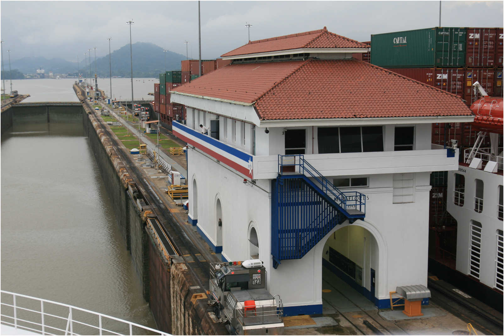
[[[502,134],[502,98],[482,97],[475,101],[470,109],[475,114],[471,126],[483,132]]]

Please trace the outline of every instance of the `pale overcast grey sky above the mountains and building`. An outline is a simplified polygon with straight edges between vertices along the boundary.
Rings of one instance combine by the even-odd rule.
[[[11,60],[26,56],[82,61],[89,48],[96,56],[132,40],[198,58],[197,1],[1,1],[1,37]],[[443,1],[445,27],[502,27],[502,1]],[[202,58],[217,58],[250,40],[322,29],[358,41],[370,34],[438,26],[438,1],[202,1]],[[94,56],[93,50],[92,55]]]

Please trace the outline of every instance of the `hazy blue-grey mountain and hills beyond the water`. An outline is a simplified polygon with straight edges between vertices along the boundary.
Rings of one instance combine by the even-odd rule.
[[[165,71],[165,53],[163,48],[145,42],[137,42],[132,45],[133,50],[133,76],[134,77],[158,77],[159,73]],[[79,64],[79,70],[84,76],[89,76],[89,63],[83,57]],[[166,52],[166,70],[180,70],[180,61],[185,59],[185,55],[172,51]],[[131,76],[130,45],[127,44],[110,55],[112,76]],[[89,57],[88,57],[89,62]],[[19,69],[23,73],[35,73],[42,68],[45,74],[49,71],[53,73],[77,74],[76,62],[69,62],[61,58],[46,59],[44,57],[24,57],[13,61],[12,68]],[[86,71],[87,70],[87,71]],[[108,54],[96,59],[96,72],[99,77],[109,76]],[[94,77],[95,61],[91,52],[91,75]]]

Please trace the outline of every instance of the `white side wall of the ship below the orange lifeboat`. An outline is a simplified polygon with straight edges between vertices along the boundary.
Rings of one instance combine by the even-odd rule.
[[[457,220],[457,265],[456,269],[469,274],[469,246],[471,220],[481,223],[480,282],[495,287],[496,230],[502,230],[502,221],[497,219],[498,186],[502,176],[460,165],[459,171],[448,172],[447,210]],[[465,177],[464,206],[454,204],[455,173]],[[476,195],[475,179],[483,181],[483,212],[474,211]]]

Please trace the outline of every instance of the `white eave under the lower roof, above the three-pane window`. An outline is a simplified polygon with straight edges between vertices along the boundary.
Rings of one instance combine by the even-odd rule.
[[[261,120],[261,127],[353,126],[387,124],[431,124],[439,122],[473,122],[474,116],[427,116],[382,118],[328,118]]]

